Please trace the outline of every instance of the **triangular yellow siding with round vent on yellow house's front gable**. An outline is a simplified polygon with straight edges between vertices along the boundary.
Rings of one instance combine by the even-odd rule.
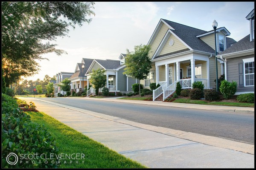
[[[170,40],[174,40],[174,44],[172,46],[169,45]],[[186,48],[187,47],[182,42],[180,42],[180,40],[171,34],[159,55],[180,51]]]

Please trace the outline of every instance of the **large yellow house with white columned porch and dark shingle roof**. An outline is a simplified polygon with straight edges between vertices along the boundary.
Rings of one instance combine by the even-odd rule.
[[[225,27],[216,29],[218,53],[236,42],[229,35]],[[153,91],[153,100],[166,99],[175,92],[177,82],[183,89],[192,88],[192,83],[198,81],[206,89],[216,88],[214,30],[204,31],[160,19],[148,45],[151,45],[152,68],[148,79],[141,82],[144,88],[149,88],[152,82],[160,84]],[[224,62],[218,59],[218,77],[223,73]]]

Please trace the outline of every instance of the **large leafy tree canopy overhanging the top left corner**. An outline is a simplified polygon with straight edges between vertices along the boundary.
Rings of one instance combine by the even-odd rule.
[[[17,82],[21,76],[37,73],[36,59],[47,59],[42,54],[55,52],[57,44],[49,41],[65,37],[69,28],[90,23],[94,2],[1,2],[2,3],[2,65],[9,65],[5,71],[6,86]],[[5,63],[3,64],[3,59]]]

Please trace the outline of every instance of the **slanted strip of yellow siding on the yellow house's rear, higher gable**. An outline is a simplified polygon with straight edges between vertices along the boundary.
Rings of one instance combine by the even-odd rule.
[[[168,26],[166,26],[165,24],[161,26],[160,30],[157,33],[157,36],[155,37],[154,41],[151,44],[151,50],[148,53],[148,57],[150,59],[153,57],[155,51],[157,50],[160,42],[163,40],[163,37],[166,34],[168,29],[169,29]]]

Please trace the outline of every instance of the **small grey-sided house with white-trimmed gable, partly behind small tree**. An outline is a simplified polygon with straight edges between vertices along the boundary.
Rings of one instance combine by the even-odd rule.
[[[131,76],[123,74],[125,68],[126,54],[120,54],[119,60],[112,59],[94,59],[86,72],[87,79],[90,80],[90,74],[93,70],[105,70],[106,87],[110,92],[128,93],[132,92],[132,85],[137,83],[137,80]],[[87,87],[89,81],[87,81]],[[95,90],[95,89],[94,89]],[[87,91],[87,96],[93,94],[93,88]]]

